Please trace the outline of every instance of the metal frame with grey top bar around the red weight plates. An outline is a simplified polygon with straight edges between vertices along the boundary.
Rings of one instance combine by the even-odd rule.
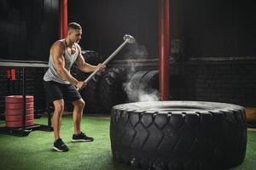
[[[27,136],[33,130],[42,131],[53,131],[50,122],[50,110],[48,107],[48,124],[34,124],[32,126],[26,127],[26,68],[28,67],[38,67],[38,68],[48,68],[47,63],[39,61],[17,61],[17,60],[0,60],[0,66],[2,67],[19,67],[22,68],[22,127],[0,127],[0,134],[9,134],[14,136]]]

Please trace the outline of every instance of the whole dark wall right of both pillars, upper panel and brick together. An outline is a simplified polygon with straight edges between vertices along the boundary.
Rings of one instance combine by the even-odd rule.
[[[253,3],[238,0],[171,2],[172,39],[182,40],[184,53],[175,66],[177,77],[171,77],[172,99],[256,107]],[[172,88],[172,84],[177,83],[179,86]]]

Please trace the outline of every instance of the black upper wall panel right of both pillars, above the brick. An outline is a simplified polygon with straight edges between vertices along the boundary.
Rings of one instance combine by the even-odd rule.
[[[256,55],[253,1],[183,0],[178,5],[189,57]]]

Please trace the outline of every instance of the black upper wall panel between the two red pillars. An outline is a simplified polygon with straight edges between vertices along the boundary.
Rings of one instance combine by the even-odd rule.
[[[94,0],[68,1],[68,21],[83,27],[82,48],[108,57],[123,42],[125,34],[137,44],[124,48],[116,59],[155,58],[158,54],[158,1]],[[131,50],[137,54],[131,55]]]

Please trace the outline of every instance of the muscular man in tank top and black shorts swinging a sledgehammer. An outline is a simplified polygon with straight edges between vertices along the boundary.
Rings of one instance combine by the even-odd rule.
[[[77,88],[84,88],[85,82],[79,82],[70,74],[70,68],[75,62],[80,71],[103,71],[105,65],[89,65],[84,62],[79,47],[82,27],[72,22],[68,25],[68,35],[65,39],[56,41],[49,51],[49,69],[44,74],[44,88],[49,105],[54,105],[55,111],[51,122],[54,128],[54,150],[68,151],[68,147],[61,139],[61,115],[64,110],[64,100],[73,104],[73,142],[93,141],[93,138],[81,132],[84,100]],[[77,87],[77,88],[76,88]]]

